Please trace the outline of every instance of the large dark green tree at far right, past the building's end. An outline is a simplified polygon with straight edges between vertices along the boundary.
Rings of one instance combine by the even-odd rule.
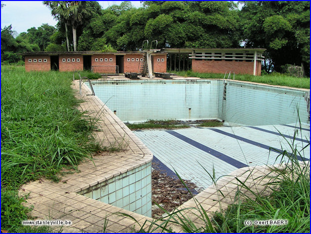
[[[285,64],[303,64],[309,74],[310,1],[243,3],[240,18],[246,46],[267,48],[266,53],[277,72],[281,72]]]

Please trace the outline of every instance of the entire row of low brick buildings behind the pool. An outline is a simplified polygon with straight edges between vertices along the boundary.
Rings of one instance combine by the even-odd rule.
[[[24,52],[26,71],[82,71],[101,74],[141,73],[146,56],[153,72],[190,70],[261,75],[261,48],[163,48],[144,52]],[[150,57],[148,57],[150,58]],[[149,66],[149,65],[148,65]]]

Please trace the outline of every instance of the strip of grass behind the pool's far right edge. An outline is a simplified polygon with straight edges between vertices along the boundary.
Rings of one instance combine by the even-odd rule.
[[[214,74],[214,73],[197,73],[193,71],[181,71],[175,72],[172,71],[178,76],[182,77],[198,77],[204,79],[222,79],[225,74]],[[228,75],[226,76],[226,78]],[[233,79],[233,74],[231,75],[231,79]],[[257,83],[266,83],[272,85],[282,85],[296,88],[309,88],[310,89],[310,78],[297,78],[290,77],[279,73],[272,73],[270,75],[264,76],[252,76],[252,75],[235,75],[236,80],[245,80]]]

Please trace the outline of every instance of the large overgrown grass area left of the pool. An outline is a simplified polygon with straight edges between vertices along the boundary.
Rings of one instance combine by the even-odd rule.
[[[63,166],[100,149],[91,135],[96,121],[77,110],[72,80],[72,73],[1,66],[1,229],[29,231],[21,225],[20,185],[43,176],[57,181]]]

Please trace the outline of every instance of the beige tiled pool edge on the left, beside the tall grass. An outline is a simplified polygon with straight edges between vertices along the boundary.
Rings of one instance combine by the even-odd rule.
[[[78,90],[78,84],[75,83],[73,88]],[[90,115],[96,115],[102,111],[104,104],[97,97],[86,96],[87,91],[86,87],[83,86],[82,96],[86,102],[80,104],[80,109],[87,110]],[[122,210],[121,208],[77,194],[122,174],[135,171],[142,166],[150,167],[151,172],[153,155],[149,149],[108,108],[104,107],[104,111],[103,118],[105,119],[102,119],[101,122],[104,123],[107,132],[101,132],[98,137],[105,137],[109,143],[121,139],[127,142],[126,149],[121,152],[94,156],[94,162],[90,160],[82,162],[78,165],[80,173],[63,176],[60,183],[40,180],[24,185],[20,193],[30,193],[27,205],[34,206],[33,216],[40,219],[71,220],[74,225],[69,228],[78,228],[80,231],[83,229],[83,232],[95,232],[95,230],[96,232],[103,232],[103,221],[106,214],[110,216],[111,223],[108,231],[125,232],[128,226],[134,224],[131,219],[113,215],[114,212]],[[148,180],[150,180],[148,183],[150,193],[148,195],[151,196],[151,176],[148,177]],[[149,199],[151,200],[151,197]],[[151,215],[151,202],[149,205]],[[137,220],[152,220],[149,217],[127,210],[122,210],[122,212],[134,215]],[[93,214],[95,218],[88,217]],[[118,225],[120,220],[122,220],[122,225]],[[77,232],[77,230],[72,231]]]

